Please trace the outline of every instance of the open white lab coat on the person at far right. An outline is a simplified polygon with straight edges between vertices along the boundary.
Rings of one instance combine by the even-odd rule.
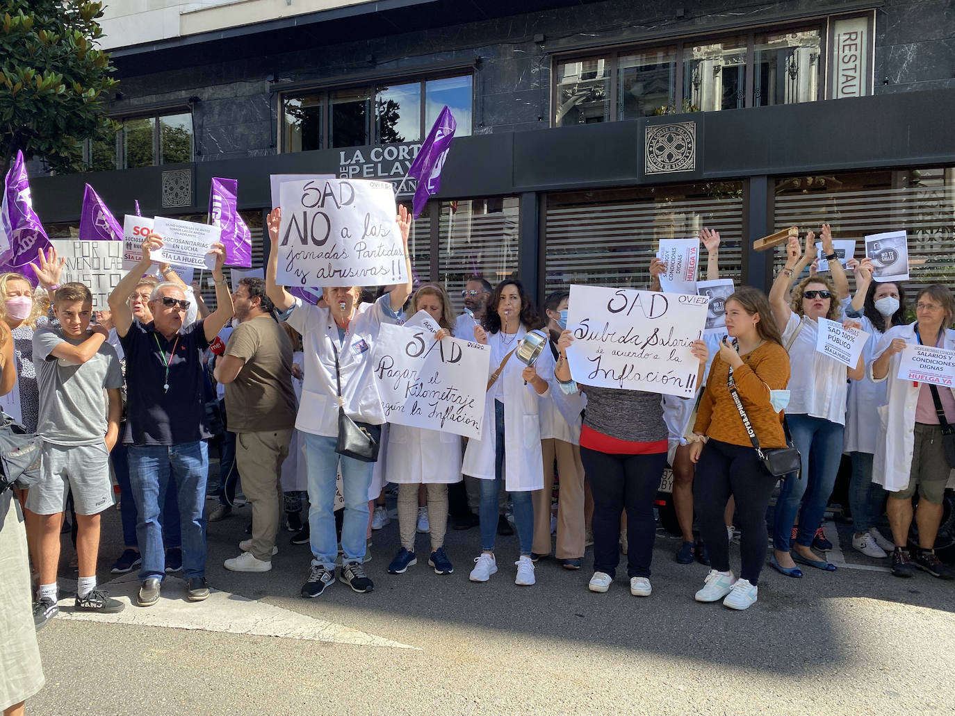
[[[912,451],[915,447],[915,409],[919,403],[922,384],[915,385],[912,381],[897,377],[902,353],[896,353],[889,359],[889,371],[884,378],[878,380],[872,375],[872,366],[876,359],[885,352],[894,338],[902,338],[905,343],[919,342],[915,337],[915,324],[889,328],[882,334],[879,345],[873,352],[872,363],[865,367],[865,371],[874,383],[886,381],[888,384],[888,402],[879,408],[881,439],[876,446],[872,481],[896,493],[908,487]],[[955,350],[955,330],[945,329],[944,348]],[[953,389],[940,387],[939,390]]]

